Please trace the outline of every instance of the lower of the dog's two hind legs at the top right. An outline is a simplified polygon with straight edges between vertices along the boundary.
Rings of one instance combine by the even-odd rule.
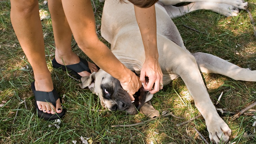
[[[195,10],[212,10],[225,16],[237,16],[238,8],[233,5],[213,2],[193,2],[185,6],[175,7],[172,5],[163,6],[171,18],[185,15]]]

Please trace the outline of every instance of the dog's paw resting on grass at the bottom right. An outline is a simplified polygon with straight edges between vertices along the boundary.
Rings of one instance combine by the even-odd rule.
[[[221,118],[210,121],[206,126],[213,143],[219,144],[220,142],[227,143],[229,141],[232,130]]]

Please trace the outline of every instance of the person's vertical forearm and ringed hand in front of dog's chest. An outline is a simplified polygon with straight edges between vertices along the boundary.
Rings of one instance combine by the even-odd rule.
[[[160,83],[163,82],[163,73],[158,62],[155,5],[149,8],[134,5],[134,11],[146,55],[140,72],[140,81],[145,84],[145,89],[154,94],[163,88],[160,87]],[[149,77],[148,83],[146,83],[145,76]],[[152,89],[154,84],[154,89]]]

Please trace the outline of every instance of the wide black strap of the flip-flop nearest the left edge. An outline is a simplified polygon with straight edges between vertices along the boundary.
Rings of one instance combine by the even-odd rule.
[[[58,92],[53,89],[50,92],[44,91],[33,91],[36,101],[43,101],[43,102],[51,102],[54,106],[56,106],[56,100],[59,97]]]

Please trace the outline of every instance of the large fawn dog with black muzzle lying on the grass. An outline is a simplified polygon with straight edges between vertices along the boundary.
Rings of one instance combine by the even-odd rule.
[[[172,1],[174,0],[169,2]],[[231,2],[231,0],[227,1]],[[170,6],[162,2],[166,4],[168,1],[161,0],[155,4],[155,8],[157,47],[163,83],[166,85],[173,79],[181,77],[197,109],[205,119],[211,141],[228,142],[232,131],[218,115],[200,72],[222,74],[234,80],[256,81],[256,70],[238,67],[211,54],[190,53],[171,20],[174,12],[170,11]],[[243,1],[240,2],[244,4]],[[145,52],[133,8],[128,2],[106,0],[102,14],[101,35],[111,44],[113,54],[127,68],[139,75],[145,61]],[[110,111],[121,110],[134,115],[153,97],[153,94],[142,87],[135,93],[135,101],[132,103],[120,82],[102,69],[90,76],[82,77],[81,81],[80,87],[89,88],[98,95],[101,105]]]

